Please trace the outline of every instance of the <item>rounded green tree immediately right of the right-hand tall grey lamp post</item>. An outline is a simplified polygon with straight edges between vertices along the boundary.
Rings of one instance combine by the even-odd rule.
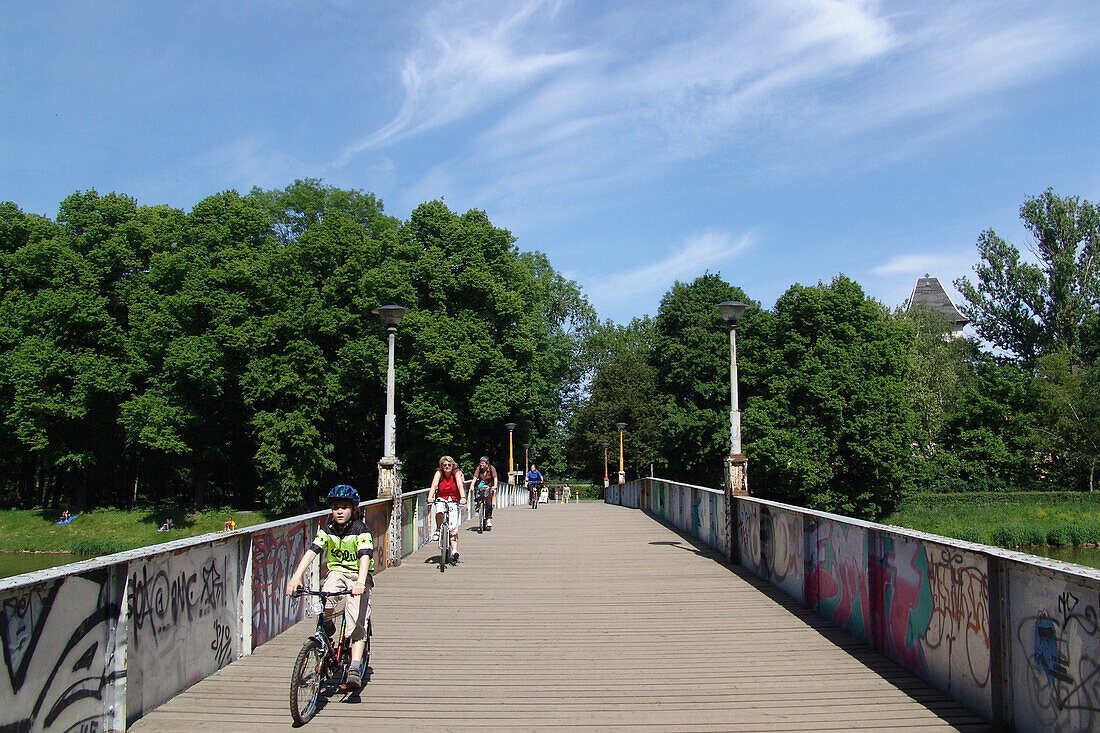
[[[889,512],[913,471],[908,328],[839,275],[792,286],[744,330],[754,493],[867,518]]]

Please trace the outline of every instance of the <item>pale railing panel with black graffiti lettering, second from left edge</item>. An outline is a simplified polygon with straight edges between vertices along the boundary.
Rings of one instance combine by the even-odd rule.
[[[128,722],[241,656],[239,556],[228,541],[131,565]]]

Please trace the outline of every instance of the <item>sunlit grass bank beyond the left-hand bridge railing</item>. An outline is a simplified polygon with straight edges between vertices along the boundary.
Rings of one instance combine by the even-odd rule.
[[[167,514],[156,514],[152,510],[99,508],[78,515],[69,524],[58,525],[56,512],[4,510],[0,511],[0,550],[109,555],[218,532],[224,528],[227,519],[233,519],[239,528],[267,521],[263,512],[208,510],[174,515],[176,528],[157,532],[166,517]]]

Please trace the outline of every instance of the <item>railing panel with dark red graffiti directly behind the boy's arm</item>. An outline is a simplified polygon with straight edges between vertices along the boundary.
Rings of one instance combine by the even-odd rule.
[[[312,540],[312,523],[298,522],[252,535],[252,648],[305,617],[305,604],[287,598],[286,583]],[[307,587],[312,569],[306,571]]]

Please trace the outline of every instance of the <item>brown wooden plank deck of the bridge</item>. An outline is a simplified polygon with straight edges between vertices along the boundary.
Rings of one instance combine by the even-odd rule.
[[[497,512],[377,577],[373,672],[312,731],[990,730],[914,676],[636,510]],[[134,731],[289,730],[304,622]]]

